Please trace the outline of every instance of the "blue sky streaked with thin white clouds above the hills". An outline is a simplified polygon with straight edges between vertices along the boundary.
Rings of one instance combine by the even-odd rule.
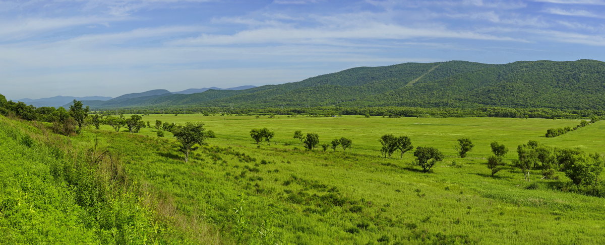
[[[0,94],[12,100],[578,59],[605,60],[605,0],[0,0]]]

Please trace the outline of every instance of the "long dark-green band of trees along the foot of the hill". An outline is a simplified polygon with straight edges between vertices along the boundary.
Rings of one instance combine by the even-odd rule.
[[[263,109],[241,107],[187,107],[180,109],[116,109],[99,110],[106,115],[119,114],[185,114],[206,113],[208,115],[370,115],[385,117],[497,117],[497,118],[549,118],[581,119],[605,116],[605,110],[560,110],[550,108],[424,108],[424,107],[268,107]]]

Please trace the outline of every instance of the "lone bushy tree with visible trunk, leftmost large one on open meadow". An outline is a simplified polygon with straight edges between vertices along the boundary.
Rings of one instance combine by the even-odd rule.
[[[178,127],[174,130],[174,137],[177,138],[180,146],[178,148],[185,154],[185,162],[189,161],[189,153],[199,148],[198,145],[206,144],[206,129],[203,123],[186,123],[185,126]]]

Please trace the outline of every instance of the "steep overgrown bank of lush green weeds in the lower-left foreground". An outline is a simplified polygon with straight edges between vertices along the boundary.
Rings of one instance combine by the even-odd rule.
[[[194,244],[82,146],[0,116],[0,244]]]

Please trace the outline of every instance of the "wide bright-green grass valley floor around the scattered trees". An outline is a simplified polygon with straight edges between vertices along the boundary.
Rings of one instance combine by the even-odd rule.
[[[128,115],[125,115],[128,116]],[[605,122],[545,138],[546,129],[578,120],[511,118],[255,118],[253,116],[148,115],[183,124],[201,121],[216,139],[185,164],[155,129],[114,133],[109,126],[73,138],[128,159],[134,176],[175,206],[174,215],[211,224],[226,241],[261,244],[598,244],[605,241],[603,199],[549,188],[561,180],[540,180],[537,188],[512,168],[497,177],[485,165],[489,143],[509,148],[535,140],[557,147],[605,152]],[[275,131],[271,145],[254,144],[250,129]],[[343,153],[309,152],[292,138],[295,130],[318,133],[320,144],[353,139]],[[434,173],[420,173],[403,159],[380,158],[378,138],[410,136],[414,146],[439,148],[446,159]],[[476,147],[456,158],[454,142],[470,138]],[[287,144],[286,144],[287,143]],[[453,164],[456,162],[456,164]],[[535,186],[534,186],[535,187]],[[243,194],[243,195],[242,195]],[[243,196],[243,202],[240,202]],[[235,212],[238,211],[238,212]],[[243,214],[240,216],[240,214]],[[192,224],[193,225],[193,224]],[[229,242],[227,242],[229,243]]]

